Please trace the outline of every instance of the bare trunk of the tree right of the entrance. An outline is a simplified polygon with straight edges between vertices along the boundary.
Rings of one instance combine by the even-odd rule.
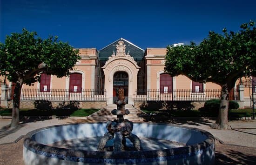
[[[229,127],[229,122],[228,122],[229,91],[230,90],[227,84],[222,86],[219,115],[216,120],[216,123],[211,125],[211,128],[227,130]]]

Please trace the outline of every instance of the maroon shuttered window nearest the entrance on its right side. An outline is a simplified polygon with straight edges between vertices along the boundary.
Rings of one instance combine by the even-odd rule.
[[[169,74],[160,74],[160,93],[172,92],[172,77]]]

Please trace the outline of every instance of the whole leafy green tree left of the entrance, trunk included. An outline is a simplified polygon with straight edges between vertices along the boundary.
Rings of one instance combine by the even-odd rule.
[[[23,84],[40,82],[40,74],[63,77],[69,75],[80,59],[78,50],[58,37],[42,40],[36,32],[26,29],[12,33],[0,43],[0,75],[15,83],[11,127],[19,125],[20,93]]]

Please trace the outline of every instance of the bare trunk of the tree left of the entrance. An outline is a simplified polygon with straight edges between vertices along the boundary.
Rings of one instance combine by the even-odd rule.
[[[16,82],[13,94],[13,112],[12,112],[12,123],[11,127],[15,128],[20,124],[20,93],[23,80],[19,79]]]

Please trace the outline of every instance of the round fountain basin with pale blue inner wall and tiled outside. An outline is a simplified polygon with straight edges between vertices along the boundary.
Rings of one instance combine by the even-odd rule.
[[[141,138],[142,148],[143,144],[151,144],[148,145],[149,148],[145,146],[143,151],[125,152],[95,151],[99,137],[104,136],[106,132],[106,123],[57,125],[34,130],[27,133],[24,140],[24,163],[25,165],[213,165],[215,163],[215,139],[209,132],[200,129],[171,124],[134,123],[133,133]],[[81,148],[79,143],[74,143],[79,140],[83,146]],[[63,141],[71,142],[70,147]],[[61,145],[56,145],[58,143]],[[155,143],[158,145],[154,147]],[[78,145],[78,148],[72,147],[73,145]]]

